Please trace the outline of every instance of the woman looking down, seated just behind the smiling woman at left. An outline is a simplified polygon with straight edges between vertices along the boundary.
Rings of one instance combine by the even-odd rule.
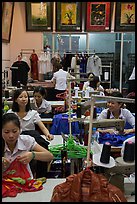
[[[34,100],[32,108],[37,110],[40,114],[40,117],[53,117],[51,104],[45,99],[46,90],[44,87],[38,86],[35,87],[33,91]]]

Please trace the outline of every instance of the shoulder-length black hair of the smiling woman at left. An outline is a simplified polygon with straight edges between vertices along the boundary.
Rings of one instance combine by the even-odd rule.
[[[16,100],[23,91],[26,91],[26,93],[28,95],[28,104],[26,105],[26,112],[31,110],[29,94],[28,94],[27,90],[25,88],[23,88],[23,89],[17,89],[17,90],[14,91],[13,104],[12,104],[12,111],[14,111],[14,112],[19,112],[19,105],[16,102]]]

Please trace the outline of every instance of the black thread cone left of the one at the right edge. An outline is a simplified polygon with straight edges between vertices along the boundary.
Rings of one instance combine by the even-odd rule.
[[[111,145],[109,142],[106,142],[102,148],[100,162],[104,164],[108,164],[110,160],[110,154],[111,154]]]

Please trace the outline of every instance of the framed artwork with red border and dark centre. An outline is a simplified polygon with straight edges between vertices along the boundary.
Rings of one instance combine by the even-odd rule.
[[[110,2],[87,2],[86,31],[110,31]]]

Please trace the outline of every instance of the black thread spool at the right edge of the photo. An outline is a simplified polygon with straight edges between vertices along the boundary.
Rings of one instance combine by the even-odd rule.
[[[123,160],[125,162],[134,162],[135,160],[135,143],[134,142],[128,141],[125,143]]]

